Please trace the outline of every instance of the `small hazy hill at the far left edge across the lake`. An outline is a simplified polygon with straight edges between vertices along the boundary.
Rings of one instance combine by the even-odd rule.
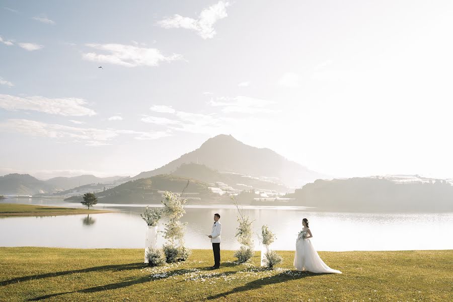
[[[0,194],[31,195],[42,192],[52,192],[55,188],[29,174],[8,174],[0,176]]]

